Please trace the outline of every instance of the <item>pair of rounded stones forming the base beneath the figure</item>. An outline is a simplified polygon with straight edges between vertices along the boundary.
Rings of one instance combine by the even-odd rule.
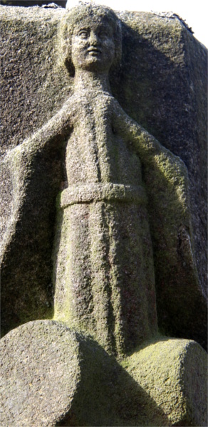
[[[207,426],[206,353],[158,339],[118,363],[60,322],[1,339],[1,426]]]

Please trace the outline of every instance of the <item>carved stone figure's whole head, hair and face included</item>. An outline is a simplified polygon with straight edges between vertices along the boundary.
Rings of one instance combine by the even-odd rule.
[[[108,72],[120,63],[120,21],[111,9],[77,6],[65,16],[61,32],[64,60],[71,75],[75,68]]]

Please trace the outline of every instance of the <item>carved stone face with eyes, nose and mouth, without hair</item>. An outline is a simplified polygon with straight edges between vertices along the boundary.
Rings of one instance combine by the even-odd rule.
[[[73,31],[71,53],[76,70],[108,73],[115,56],[112,26],[106,21],[81,22]]]

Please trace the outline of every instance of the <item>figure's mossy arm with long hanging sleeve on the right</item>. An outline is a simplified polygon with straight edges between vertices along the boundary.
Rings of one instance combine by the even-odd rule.
[[[113,128],[130,144],[143,165],[154,245],[158,312],[165,313],[159,317],[160,325],[175,331],[182,325],[184,336],[199,336],[200,326],[206,325],[206,309],[194,258],[187,168],[180,157],[162,147],[155,137],[130,119],[118,102],[113,106]],[[197,305],[202,310],[198,313],[199,322],[193,325],[192,313]],[[176,313],[177,321],[172,320]]]

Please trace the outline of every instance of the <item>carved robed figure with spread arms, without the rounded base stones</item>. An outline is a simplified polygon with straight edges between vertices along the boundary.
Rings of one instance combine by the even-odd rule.
[[[61,45],[66,66],[75,71],[73,95],[6,157],[15,163],[16,194],[26,194],[38,155],[47,147],[65,152],[66,189],[58,202],[54,244],[54,318],[90,332],[113,354],[157,333],[149,209],[153,215],[156,205],[165,210],[169,223],[161,236],[172,236],[170,256],[184,233],[182,258],[194,275],[187,170],[110,93],[108,74],[119,63],[121,39],[110,9],[72,9],[61,24]],[[23,206],[24,199],[19,197]]]

